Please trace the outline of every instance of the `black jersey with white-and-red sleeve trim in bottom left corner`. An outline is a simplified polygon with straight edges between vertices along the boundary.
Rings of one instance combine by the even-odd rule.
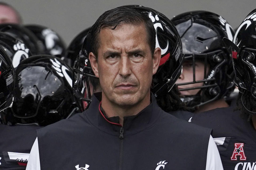
[[[0,170],[25,170],[38,126],[0,124]]]

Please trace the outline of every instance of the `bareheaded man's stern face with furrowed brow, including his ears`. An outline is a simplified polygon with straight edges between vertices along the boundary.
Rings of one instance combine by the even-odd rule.
[[[102,88],[102,99],[129,106],[150,99],[152,75],[156,73],[161,50],[152,57],[144,24],[122,24],[114,30],[101,29],[98,61],[90,61]]]

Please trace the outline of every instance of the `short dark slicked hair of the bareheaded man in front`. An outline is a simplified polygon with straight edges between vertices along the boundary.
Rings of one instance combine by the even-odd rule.
[[[110,28],[115,29],[118,25],[121,24],[131,24],[131,25],[139,25],[141,23],[145,24],[147,35],[148,35],[148,43],[150,45],[150,49],[152,54],[155,50],[155,29],[154,25],[151,22],[150,18],[138,12],[133,8],[129,8],[126,6],[121,6],[114,8],[112,10],[104,12],[91,27],[91,47],[92,52],[97,58],[97,50],[99,48],[99,32],[102,28]]]

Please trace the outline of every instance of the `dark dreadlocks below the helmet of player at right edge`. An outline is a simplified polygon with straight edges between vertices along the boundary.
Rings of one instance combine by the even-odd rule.
[[[242,103],[242,99],[243,99],[243,103]],[[247,111],[247,109],[243,105],[245,105],[245,107],[249,111],[255,112],[256,100],[251,96],[250,92],[245,91],[244,94],[239,92],[237,96],[237,108],[235,110],[239,110],[241,112],[242,118],[245,118],[247,121],[251,121],[252,113]]]

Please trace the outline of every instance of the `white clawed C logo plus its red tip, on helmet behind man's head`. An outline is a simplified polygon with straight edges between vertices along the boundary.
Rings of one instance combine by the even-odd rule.
[[[165,54],[168,51],[168,47],[169,47],[169,41],[168,40],[167,40],[167,45],[166,45],[166,47],[164,49],[162,49],[161,46],[159,45],[159,41],[158,41],[158,37],[157,37],[157,28],[161,28],[163,30],[163,25],[160,22],[157,22],[157,21],[159,21],[158,15],[155,15],[155,17],[154,17],[152,15],[152,12],[150,12],[149,13],[149,18],[154,23],[154,28],[155,28],[155,31],[156,31],[156,34],[155,34],[155,48],[160,48],[161,49],[161,55],[163,55],[163,54]],[[164,64],[168,60],[169,57],[170,57],[170,53],[168,53],[165,56],[161,57],[159,66]]]

